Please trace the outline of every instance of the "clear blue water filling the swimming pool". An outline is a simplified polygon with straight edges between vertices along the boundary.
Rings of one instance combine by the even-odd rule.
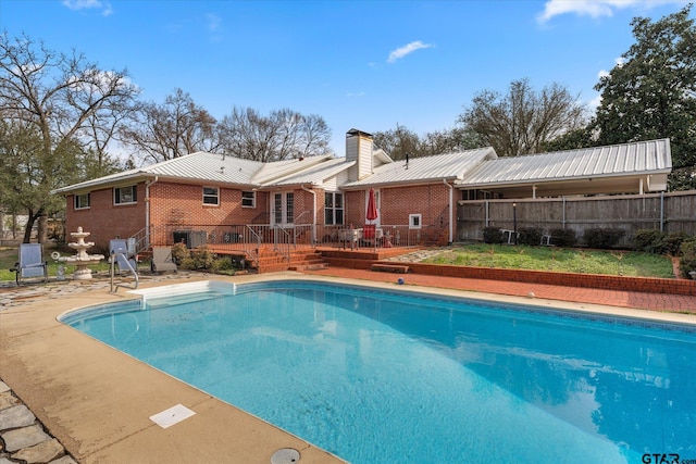
[[[63,322],[356,464],[696,459],[687,326],[301,280]]]

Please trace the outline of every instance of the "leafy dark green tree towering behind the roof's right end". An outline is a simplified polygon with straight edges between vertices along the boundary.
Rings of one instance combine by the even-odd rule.
[[[692,5],[631,22],[635,43],[595,87],[598,145],[669,137],[671,190],[696,188],[696,28]]]

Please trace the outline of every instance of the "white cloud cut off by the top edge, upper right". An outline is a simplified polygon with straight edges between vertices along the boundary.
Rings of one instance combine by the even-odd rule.
[[[554,16],[561,14],[577,14],[594,18],[611,16],[616,10],[634,8],[648,10],[669,3],[685,4],[684,0],[548,0],[536,18],[539,23],[546,23]]]

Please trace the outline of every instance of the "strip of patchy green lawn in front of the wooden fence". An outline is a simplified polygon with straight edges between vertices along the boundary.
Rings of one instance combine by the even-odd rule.
[[[478,267],[536,269],[634,277],[674,277],[668,256],[637,251],[601,251],[556,247],[468,244],[423,261]]]

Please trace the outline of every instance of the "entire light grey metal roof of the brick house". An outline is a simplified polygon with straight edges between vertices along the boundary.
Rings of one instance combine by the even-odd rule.
[[[376,153],[376,154],[375,154]],[[563,181],[593,177],[669,174],[672,167],[669,139],[622,143],[571,151],[497,158],[493,148],[459,151],[435,156],[394,161],[381,151],[373,153],[385,162],[363,179],[339,186],[363,189],[378,186],[427,184],[455,180],[460,188]],[[309,156],[270,163],[235,156],[196,152],[150,166],[125,171],[53,190],[52,193],[88,191],[146,178],[194,180],[200,184],[272,187],[321,185],[349,170],[356,161],[345,158]]]

